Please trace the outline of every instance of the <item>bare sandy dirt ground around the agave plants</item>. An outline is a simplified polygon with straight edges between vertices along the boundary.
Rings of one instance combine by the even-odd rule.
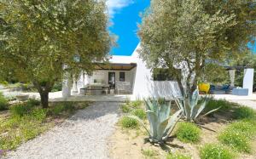
[[[179,152],[186,154],[194,159],[200,158],[199,150],[202,145],[207,143],[218,143],[218,133],[222,131],[229,123],[229,115],[214,115],[212,117],[203,118],[198,124],[201,126],[201,140],[197,144],[183,143],[171,136],[166,145],[151,145],[145,139],[148,137],[143,128],[140,129],[122,129],[118,125],[116,131],[109,138],[109,156],[113,159],[141,159],[147,158],[143,156],[143,150],[153,150],[155,156],[151,158],[166,158],[168,152]],[[241,154],[241,159],[256,159],[256,140],[253,142],[252,154]]]

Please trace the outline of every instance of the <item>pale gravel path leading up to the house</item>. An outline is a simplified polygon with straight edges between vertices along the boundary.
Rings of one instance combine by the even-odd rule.
[[[94,103],[5,158],[108,158],[107,138],[118,121],[118,110],[119,103]]]

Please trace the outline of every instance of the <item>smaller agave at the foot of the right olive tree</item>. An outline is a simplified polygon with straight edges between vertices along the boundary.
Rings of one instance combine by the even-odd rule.
[[[201,112],[205,109],[207,105],[208,98],[207,96],[204,97],[201,102],[199,102],[199,91],[198,89],[195,89],[192,95],[188,96],[187,98],[178,99],[175,98],[175,102],[179,109],[183,111],[183,116],[185,116],[186,120],[189,122],[195,122],[196,118],[199,117]],[[212,113],[213,111],[217,111],[220,107],[217,109],[214,109],[212,111],[208,111],[203,116],[207,116],[208,114]],[[200,116],[201,117],[201,116]]]

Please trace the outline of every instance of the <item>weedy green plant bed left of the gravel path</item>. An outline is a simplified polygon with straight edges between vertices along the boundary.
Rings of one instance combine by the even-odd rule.
[[[16,105],[11,105],[9,111],[0,114],[0,150],[4,155],[9,150],[15,150],[20,144],[37,137],[64,122],[79,109],[84,109],[89,103],[59,102],[50,103],[48,109],[42,109],[38,101],[30,99]],[[1,156],[0,156],[1,157]]]

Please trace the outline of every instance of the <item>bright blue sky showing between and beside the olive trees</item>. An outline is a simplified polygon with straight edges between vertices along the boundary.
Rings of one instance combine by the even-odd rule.
[[[118,36],[118,47],[113,48],[110,54],[131,55],[139,43],[137,24],[141,22],[139,14],[149,7],[150,0],[108,0],[108,13],[113,26],[110,26]],[[248,47],[256,54],[256,43],[249,43]]]

